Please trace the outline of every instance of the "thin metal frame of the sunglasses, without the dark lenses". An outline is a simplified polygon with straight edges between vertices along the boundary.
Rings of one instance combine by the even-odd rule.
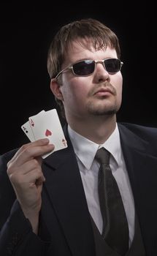
[[[108,59],[116,59],[116,58],[108,58]],[[107,61],[108,59],[103,59],[102,61],[100,61],[100,60],[99,60],[99,61],[96,61],[96,60],[91,60],[91,59],[85,59],[85,60],[82,60],[82,61],[93,61],[94,64],[95,64],[95,67],[94,67],[94,69],[93,69],[93,72],[94,72],[94,70],[96,69],[96,64],[98,64],[98,63],[102,64],[103,67],[104,67],[104,69],[107,70],[106,67],[105,67],[104,61]],[[65,69],[62,69],[60,72],[58,72],[58,74],[55,76],[54,79],[57,80],[58,76],[61,75],[64,71],[66,71],[66,70],[68,70],[68,69],[71,69],[72,72],[73,72],[73,74],[74,74],[75,76],[78,76],[78,77],[80,77],[80,76],[85,77],[85,76],[92,75],[93,72],[91,72],[91,73],[88,74],[88,75],[77,75],[77,74],[74,73],[74,69],[73,69],[74,64],[80,63],[80,62],[82,62],[82,61],[74,62],[72,65],[70,65],[70,66],[68,66],[68,67],[65,67]],[[118,59],[118,61],[120,61],[120,59]],[[123,62],[120,61],[120,69],[119,69],[117,72],[119,72],[119,71],[121,70],[121,67],[122,67],[122,66],[123,66]],[[107,71],[107,72],[108,72],[108,71]],[[110,73],[110,74],[115,74],[115,73],[117,73],[117,72],[108,72],[108,73]]]

